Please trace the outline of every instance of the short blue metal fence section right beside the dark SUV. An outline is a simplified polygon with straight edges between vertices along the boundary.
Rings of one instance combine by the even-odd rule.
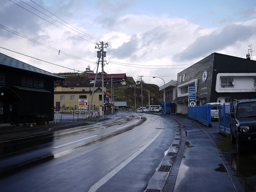
[[[230,134],[230,109],[231,109],[232,103],[229,105],[223,105],[219,104],[219,130],[224,131],[225,133]]]

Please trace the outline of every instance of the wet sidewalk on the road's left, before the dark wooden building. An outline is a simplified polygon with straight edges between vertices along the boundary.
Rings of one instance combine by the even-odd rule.
[[[116,113],[112,113],[110,115],[104,115],[104,119],[102,118],[95,118],[95,119],[86,119],[86,120],[74,120],[73,122],[68,121],[60,121],[59,123],[55,124],[55,121],[53,123],[45,124],[45,125],[39,125],[36,127],[15,127],[15,126],[9,126],[9,127],[2,127],[0,132],[0,141],[10,141],[13,139],[18,138],[24,138],[29,137],[33,135],[41,135],[46,134],[49,132],[57,131],[57,130],[63,130],[63,129],[69,129],[79,126],[88,125],[91,123],[99,122],[99,121],[105,121],[109,118],[111,118]]]

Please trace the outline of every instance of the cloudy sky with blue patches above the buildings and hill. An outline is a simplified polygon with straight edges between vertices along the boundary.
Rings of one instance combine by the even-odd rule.
[[[109,45],[106,73],[126,73],[135,80],[142,75],[158,86],[163,81],[153,76],[165,83],[177,80],[177,73],[213,52],[246,58],[249,45],[256,50],[256,1],[11,1],[0,2],[0,27],[54,49],[1,28],[0,46],[79,71],[88,65],[95,69],[99,41]],[[6,49],[0,52],[43,70],[72,71]]]

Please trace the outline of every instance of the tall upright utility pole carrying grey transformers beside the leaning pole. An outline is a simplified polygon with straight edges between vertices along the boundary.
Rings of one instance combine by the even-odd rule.
[[[96,45],[98,45],[98,47],[96,47]],[[103,43],[103,41],[101,43],[96,43],[95,45],[95,49],[99,49],[100,51],[97,51],[97,57],[101,58],[101,85],[102,85],[102,91],[101,91],[101,97],[102,97],[102,119],[104,118],[104,57],[106,57],[106,51],[104,51],[104,48],[107,48],[107,46],[109,46],[107,43]],[[100,45],[100,47],[99,47]]]

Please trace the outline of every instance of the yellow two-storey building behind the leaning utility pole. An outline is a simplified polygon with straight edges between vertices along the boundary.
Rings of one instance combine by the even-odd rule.
[[[87,99],[87,106],[89,107],[92,93],[93,86],[91,85],[54,85],[54,109],[56,109],[56,102],[60,101],[61,110],[79,110],[79,99]],[[104,85],[104,98],[106,95],[106,86]],[[93,95],[92,110],[98,111],[98,107],[101,105],[102,89],[96,86]]]

